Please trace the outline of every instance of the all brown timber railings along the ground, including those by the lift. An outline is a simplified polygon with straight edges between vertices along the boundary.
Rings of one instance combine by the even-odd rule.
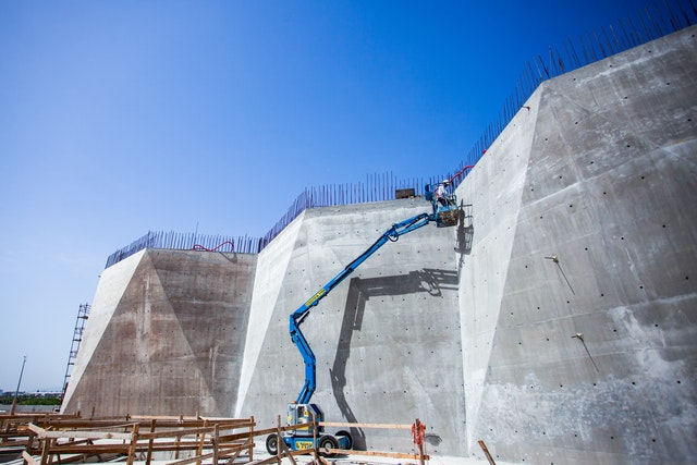
[[[417,420],[418,421],[418,420]],[[318,451],[307,449],[290,451],[279,441],[278,454],[256,460],[255,439],[264,443],[271,433],[281,436],[283,431],[307,427],[278,426],[255,429],[254,417],[249,418],[206,418],[138,416],[90,418],[58,414],[0,414],[0,452],[14,453],[25,465],[56,465],[66,463],[125,462],[126,465],[154,463],[170,465],[187,464],[281,464],[288,458],[297,465],[295,456],[313,455],[314,463],[327,464],[321,454],[370,455],[428,460],[423,448],[418,453],[395,453],[357,450]],[[412,425],[381,424],[337,424],[321,423],[322,426],[350,428],[413,429]]]

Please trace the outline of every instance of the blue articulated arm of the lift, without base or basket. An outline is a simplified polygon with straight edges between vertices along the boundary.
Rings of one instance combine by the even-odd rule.
[[[316,387],[316,359],[313,350],[309,347],[307,340],[301,331],[301,325],[303,320],[309,315],[313,307],[317,306],[319,301],[325,298],[339,283],[341,283],[348,274],[351,274],[360,264],[363,264],[368,257],[375,254],[380,247],[382,247],[388,241],[395,242],[401,235],[409,233],[421,227],[425,227],[431,221],[437,221],[435,215],[421,213],[412,217],[407,220],[392,224],[392,228],[387,230],[370,247],[368,247],[363,254],[360,254],[355,260],[346,266],[339,274],[337,274],[331,281],[325,284],[319,291],[313,295],[309,301],[301,305],[301,307],[291,315],[291,339],[297,346],[297,350],[303,356],[305,363],[305,384],[297,395],[295,401],[297,404],[309,403],[310,397],[315,393]]]

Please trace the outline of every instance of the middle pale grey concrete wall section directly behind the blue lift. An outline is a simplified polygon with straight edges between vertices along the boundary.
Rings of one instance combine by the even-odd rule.
[[[289,316],[393,223],[424,211],[421,198],[306,210],[259,254],[239,415],[260,427],[285,421],[304,380]],[[313,309],[302,329],[317,357],[313,402],[328,420],[418,417],[437,450],[464,453],[454,247],[454,229],[428,224],[387,243]],[[363,448],[396,446],[380,430],[354,436]]]

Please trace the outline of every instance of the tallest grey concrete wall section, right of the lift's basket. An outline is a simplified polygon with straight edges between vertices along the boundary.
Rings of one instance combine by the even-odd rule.
[[[696,32],[543,83],[458,188],[470,452],[697,461]]]

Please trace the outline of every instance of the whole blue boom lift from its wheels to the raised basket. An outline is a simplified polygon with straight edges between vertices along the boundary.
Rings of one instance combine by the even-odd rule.
[[[442,184],[442,183],[441,183]],[[448,183],[445,183],[447,185]],[[325,420],[325,414],[317,404],[310,403],[310,399],[316,388],[316,358],[305,335],[301,331],[301,325],[307,318],[310,310],[319,304],[334,287],[337,287],[348,274],[354,272],[368,257],[375,254],[388,241],[396,242],[401,235],[435,222],[437,227],[454,227],[460,219],[460,209],[454,194],[437,194],[431,191],[431,186],[426,186],[426,200],[432,204],[431,213],[420,213],[408,218],[402,222],[392,224],[378,240],[363,254],[348,264],[339,274],[332,278],[319,291],[317,291],[307,302],[295,310],[290,318],[290,332],[293,343],[297,346],[303,362],[305,363],[305,383],[297,399],[292,404],[288,404],[288,425],[307,425],[303,428],[284,431],[281,439],[285,445],[293,450],[317,448],[321,451],[328,449],[351,449],[353,440],[348,431],[338,431],[335,435],[326,433],[322,426],[314,426],[314,423]],[[276,455],[278,453],[279,438],[271,433],[266,439],[267,451]],[[317,442],[315,442],[317,441]],[[331,455],[330,453],[327,453]]]

